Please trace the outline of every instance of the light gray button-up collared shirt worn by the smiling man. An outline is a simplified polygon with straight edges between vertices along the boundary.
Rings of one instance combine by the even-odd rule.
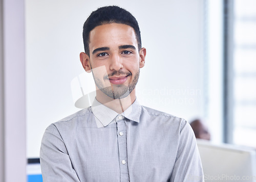
[[[203,181],[196,139],[181,118],[140,106],[101,105],[51,124],[40,150],[44,182]]]

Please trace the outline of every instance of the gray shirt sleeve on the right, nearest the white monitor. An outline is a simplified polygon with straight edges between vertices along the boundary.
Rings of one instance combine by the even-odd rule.
[[[204,181],[196,138],[185,120],[181,122],[179,147],[170,181]]]

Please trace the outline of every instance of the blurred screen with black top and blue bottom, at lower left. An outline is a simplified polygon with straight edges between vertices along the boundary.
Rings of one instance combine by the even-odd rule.
[[[42,174],[41,174],[39,158],[28,159],[27,181],[28,182],[42,182]]]

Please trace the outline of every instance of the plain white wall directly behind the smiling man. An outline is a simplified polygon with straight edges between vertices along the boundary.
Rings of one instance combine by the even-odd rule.
[[[70,82],[83,72],[82,25],[100,6],[119,5],[138,20],[147,48],[137,96],[142,105],[190,121],[204,111],[203,0],[26,1],[27,156],[42,134],[78,109]],[[158,94],[159,93],[159,94]]]

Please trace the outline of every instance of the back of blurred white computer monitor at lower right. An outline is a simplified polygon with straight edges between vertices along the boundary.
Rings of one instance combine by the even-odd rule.
[[[197,140],[205,181],[256,181],[255,150]]]

